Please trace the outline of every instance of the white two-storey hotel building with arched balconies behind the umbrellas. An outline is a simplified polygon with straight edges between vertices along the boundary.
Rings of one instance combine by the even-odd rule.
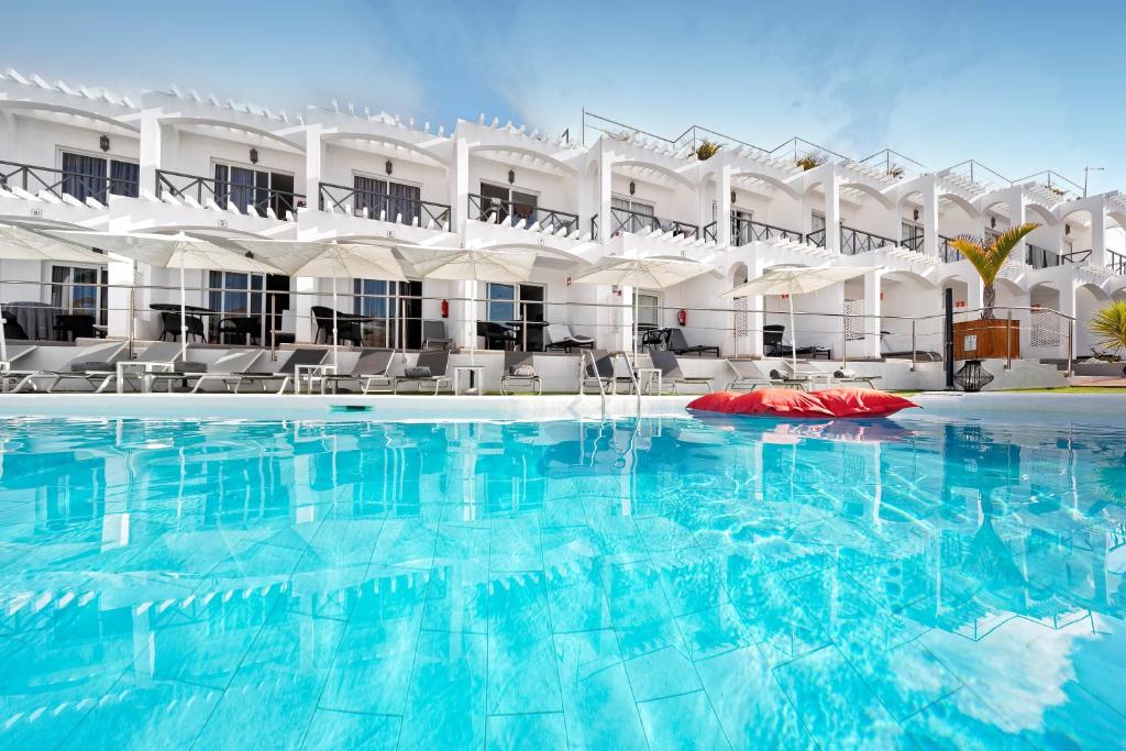
[[[721,294],[733,285],[781,263],[874,267],[796,298],[798,311],[824,314],[802,315],[796,340],[831,349],[834,360],[843,347],[849,358],[891,368],[879,363],[887,352],[940,349],[944,289],[959,310],[981,306],[981,283],[949,238],[1037,222],[1003,272],[998,304],[1000,316],[1011,306],[1021,323],[1021,367],[1054,374],[1038,360],[1065,358],[1069,330],[1074,355],[1090,354],[1084,320],[1126,287],[1126,197],[1084,196],[1053,172],[1008,180],[976,162],[928,170],[891,151],[856,161],[796,138],[766,151],[701,128],[665,141],[590,114],[582,131],[548,137],[484,117],[447,129],[334,105],[295,115],[175,88],[134,97],[9,70],[0,74],[0,222],[545,251],[529,284],[480,283],[476,313],[464,302],[471,283],[337,283],[341,311],[379,319],[372,343],[408,348],[420,346],[418,322],[440,319],[444,307],[449,336],[468,347],[473,319],[513,316],[515,297],[542,301],[546,320],[600,347],[628,349],[623,299],[632,290],[571,284],[575,261],[682,256],[717,272],[641,290],[641,315],[676,327],[683,310],[686,339],[725,355],[761,355],[763,325],[786,325],[787,341],[794,333],[786,301],[735,301],[732,310]],[[694,146],[705,138],[721,149],[700,160]],[[99,280],[104,290],[68,286]],[[188,302],[275,310],[282,330],[312,341],[310,311],[330,304],[331,285],[196,271]],[[155,339],[161,320],[149,305],[178,301],[178,276],[116,257],[105,269],[0,261],[7,304],[86,309],[91,295],[108,336],[127,336],[132,306],[138,337]],[[932,365],[929,379],[885,384],[938,385]]]

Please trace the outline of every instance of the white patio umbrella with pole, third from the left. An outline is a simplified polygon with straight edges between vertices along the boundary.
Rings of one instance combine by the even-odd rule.
[[[387,279],[405,281],[406,275],[390,248],[336,240],[243,240],[229,242],[254,259],[276,266],[288,276],[332,279],[332,363],[339,365],[337,347],[337,279]]]

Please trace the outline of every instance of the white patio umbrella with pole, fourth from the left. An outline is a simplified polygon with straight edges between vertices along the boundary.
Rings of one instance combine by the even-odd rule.
[[[531,268],[539,257],[535,250],[512,248],[449,248],[432,245],[396,244],[419,276],[427,279],[446,279],[449,281],[472,281],[473,292],[470,305],[476,320],[479,281],[495,281],[500,284],[520,284],[531,278]],[[551,252],[540,250],[540,252]],[[470,363],[474,361],[476,350],[476,331],[473,332],[470,346]]]

